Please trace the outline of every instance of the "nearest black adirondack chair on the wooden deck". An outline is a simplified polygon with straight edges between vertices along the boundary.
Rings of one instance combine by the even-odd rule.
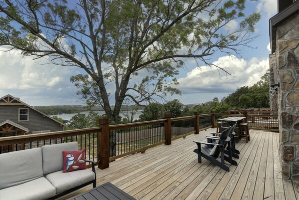
[[[224,164],[224,160],[229,162],[230,164],[237,165],[237,162],[232,159],[231,156],[231,149],[230,149],[230,137],[228,137],[228,133],[231,127],[227,128],[226,130],[222,131],[221,136],[219,138],[214,138],[218,140],[218,143],[208,143],[208,142],[201,142],[201,141],[193,141],[197,144],[197,148],[194,149],[194,152],[197,153],[198,162],[201,163],[201,156],[205,159],[209,160],[213,164],[221,167],[225,171],[229,171],[229,167]],[[201,144],[205,144],[201,147]],[[210,155],[210,152],[213,148],[210,148],[209,145],[216,146],[214,152]],[[228,157],[224,155],[224,148],[228,145]],[[230,153],[229,153],[230,152]],[[221,161],[217,160],[218,157],[221,157]]]

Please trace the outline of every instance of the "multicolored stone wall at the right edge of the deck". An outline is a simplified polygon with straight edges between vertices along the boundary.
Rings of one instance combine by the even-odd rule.
[[[297,13],[277,26],[275,60],[280,83],[277,103],[282,177],[299,181],[299,16]]]

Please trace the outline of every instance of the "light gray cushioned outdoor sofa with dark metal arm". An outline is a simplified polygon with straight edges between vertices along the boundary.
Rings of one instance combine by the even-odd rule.
[[[62,151],[78,150],[77,142],[45,145],[0,154],[0,199],[57,198],[88,184],[95,169],[62,173]]]

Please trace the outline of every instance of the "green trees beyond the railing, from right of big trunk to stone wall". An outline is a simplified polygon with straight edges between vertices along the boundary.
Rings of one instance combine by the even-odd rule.
[[[151,103],[144,108],[139,120],[162,119],[164,113],[169,113],[171,117],[181,117],[193,115],[194,112],[199,114],[207,114],[211,111],[227,113],[228,109],[269,108],[269,71],[267,70],[260,78],[253,86],[237,88],[235,92],[222,98],[221,101],[214,97],[212,101],[195,106],[184,106],[177,99],[165,104]]]

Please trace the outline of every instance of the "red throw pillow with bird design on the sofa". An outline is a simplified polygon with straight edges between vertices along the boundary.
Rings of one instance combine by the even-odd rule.
[[[62,151],[63,170],[62,172],[86,169],[85,149],[78,151]]]

